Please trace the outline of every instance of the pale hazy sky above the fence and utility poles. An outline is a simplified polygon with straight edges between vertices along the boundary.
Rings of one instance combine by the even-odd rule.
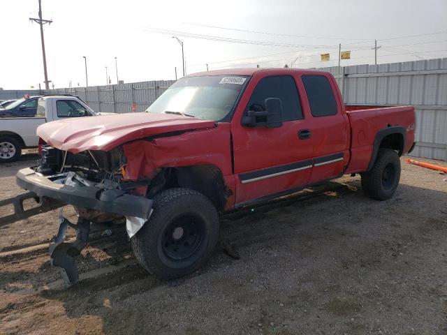
[[[55,88],[182,76],[220,68],[342,66],[447,57],[447,0],[42,0]],[[0,0],[0,87],[43,81],[38,0]],[[321,61],[320,54],[330,54]],[[117,62],[115,64],[115,57]],[[116,68],[117,65],[117,68]],[[116,71],[117,70],[117,71]],[[51,85],[50,85],[51,86]]]

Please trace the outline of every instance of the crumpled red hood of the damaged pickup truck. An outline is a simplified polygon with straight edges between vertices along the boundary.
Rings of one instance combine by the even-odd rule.
[[[76,154],[85,150],[108,151],[143,137],[214,126],[214,121],[142,112],[48,122],[37,128],[37,135],[52,147]]]

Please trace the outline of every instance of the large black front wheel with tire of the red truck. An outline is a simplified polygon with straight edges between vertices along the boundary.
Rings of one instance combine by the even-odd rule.
[[[170,188],[154,197],[153,209],[131,239],[135,258],[163,279],[196,271],[217,244],[219,216],[214,204],[189,188]]]

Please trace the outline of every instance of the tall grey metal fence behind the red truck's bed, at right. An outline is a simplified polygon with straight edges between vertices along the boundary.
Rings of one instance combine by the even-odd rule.
[[[322,70],[335,75],[346,104],[413,105],[411,156],[447,161],[447,58]]]

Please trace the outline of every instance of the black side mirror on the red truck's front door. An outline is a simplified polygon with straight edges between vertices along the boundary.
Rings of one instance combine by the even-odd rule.
[[[249,110],[241,120],[242,126],[279,128],[282,126],[282,102],[279,98],[265,99],[265,110]]]

